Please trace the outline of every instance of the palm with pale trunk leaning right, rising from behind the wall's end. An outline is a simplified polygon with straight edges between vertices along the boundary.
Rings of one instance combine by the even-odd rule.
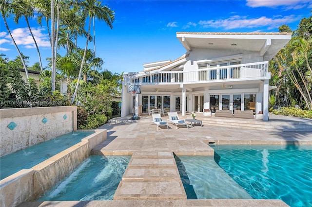
[[[113,28],[112,23],[114,22],[114,19],[115,19],[115,12],[113,10],[110,10],[110,8],[108,8],[106,5],[102,6],[101,2],[97,0],[86,0],[82,2],[82,10],[83,10],[84,16],[89,17],[90,21],[89,21],[89,26],[88,26],[86,46],[84,48],[84,53],[83,53],[83,58],[82,58],[81,65],[80,65],[78,80],[81,77],[81,73],[82,73],[82,69],[84,66],[84,61],[85,61],[85,57],[87,53],[92,18],[97,17],[99,21],[104,20],[111,29]],[[75,97],[77,95],[78,87],[79,87],[79,81],[77,82],[75,92],[73,94],[72,103],[74,102]]]

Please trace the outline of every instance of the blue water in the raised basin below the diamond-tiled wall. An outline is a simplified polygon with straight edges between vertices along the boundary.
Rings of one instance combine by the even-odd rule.
[[[77,144],[94,131],[75,131],[0,157],[0,179],[29,169]]]

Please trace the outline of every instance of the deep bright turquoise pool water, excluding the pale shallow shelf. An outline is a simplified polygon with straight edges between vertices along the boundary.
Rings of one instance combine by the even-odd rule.
[[[215,161],[254,199],[312,206],[312,146],[216,145]]]

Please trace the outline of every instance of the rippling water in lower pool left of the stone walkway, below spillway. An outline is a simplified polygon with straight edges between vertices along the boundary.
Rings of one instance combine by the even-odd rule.
[[[113,200],[130,158],[91,155],[38,201]]]

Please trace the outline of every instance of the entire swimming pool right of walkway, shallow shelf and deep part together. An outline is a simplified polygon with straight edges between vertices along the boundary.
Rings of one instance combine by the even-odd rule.
[[[247,192],[254,199],[281,199],[292,207],[312,206],[312,146],[212,147],[214,158],[178,156],[188,175],[186,182],[193,186],[198,199],[244,198]],[[224,171],[216,168],[217,164]],[[239,193],[235,189],[240,189]]]

